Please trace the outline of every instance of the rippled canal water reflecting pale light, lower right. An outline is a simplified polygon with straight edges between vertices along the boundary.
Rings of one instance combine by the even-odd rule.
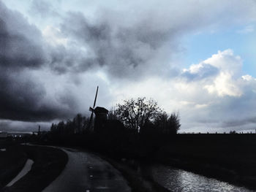
[[[230,185],[229,183],[204,177],[192,172],[186,172],[181,169],[174,169],[170,166],[154,166],[152,171],[154,180],[173,192],[251,192],[251,190],[243,187]]]

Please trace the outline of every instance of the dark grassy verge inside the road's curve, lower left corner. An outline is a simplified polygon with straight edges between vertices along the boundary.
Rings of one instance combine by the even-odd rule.
[[[13,148],[15,147],[15,148]],[[8,151],[8,150],[7,150]],[[26,162],[26,157],[31,158],[34,164],[31,171],[28,172],[24,177],[18,180],[14,185],[3,188],[0,191],[10,192],[37,192],[42,191],[47,187],[56,177],[59,176],[64,166],[67,164],[67,154],[62,150],[51,148],[51,147],[37,147],[37,146],[12,146],[9,150],[12,155],[3,154],[5,161],[10,163],[6,164],[5,167],[1,167],[0,172],[2,177],[10,178],[4,185],[10,182],[13,177],[22,169],[23,164]],[[17,153],[18,152],[18,153]],[[25,158],[23,158],[23,156]],[[13,160],[16,157],[15,160]],[[0,164],[2,158],[0,160]],[[3,161],[4,162],[4,161]],[[18,166],[17,162],[20,162],[22,166]],[[18,169],[19,168],[19,169]],[[17,169],[15,174],[12,172],[2,172],[2,170]],[[1,182],[4,180],[1,180]]]

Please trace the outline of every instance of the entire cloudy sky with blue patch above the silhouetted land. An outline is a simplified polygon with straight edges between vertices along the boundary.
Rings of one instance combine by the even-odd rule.
[[[178,112],[180,132],[255,131],[256,1],[0,0],[0,131],[110,109]]]

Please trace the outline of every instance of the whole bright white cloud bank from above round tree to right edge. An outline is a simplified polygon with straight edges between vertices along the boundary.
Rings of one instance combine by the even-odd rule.
[[[181,131],[250,130],[256,119],[256,79],[242,75],[242,65],[233,50],[218,51],[176,78],[117,84],[113,95],[118,101],[147,96],[167,112],[179,111]]]

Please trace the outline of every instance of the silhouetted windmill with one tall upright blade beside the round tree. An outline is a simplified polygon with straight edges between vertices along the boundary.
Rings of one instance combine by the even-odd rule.
[[[97,95],[98,95],[99,86],[97,86],[97,91],[94,99],[94,105],[93,107],[89,108],[89,111],[91,111],[91,118],[89,120],[89,129],[91,131],[94,131],[94,128],[97,128],[98,130],[100,128],[103,128],[105,125],[105,121],[108,119],[108,110],[106,110],[104,107],[95,107]],[[92,125],[92,120],[94,118],[95,114],[95,122],[94,126]]]

